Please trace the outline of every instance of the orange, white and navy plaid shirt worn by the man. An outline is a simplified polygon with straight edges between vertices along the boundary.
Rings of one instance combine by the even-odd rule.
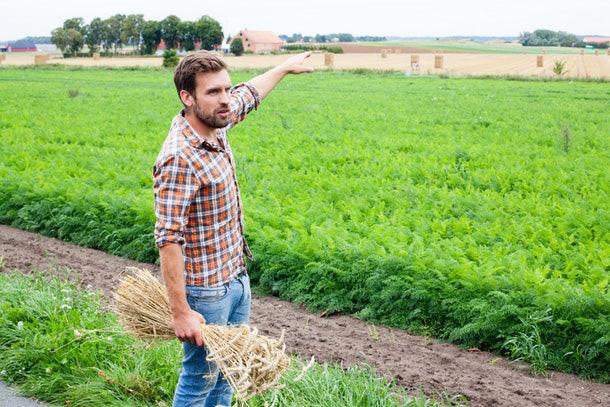
[[[227,130],[260,100],[248,83],[231,89],[231,121],[217,130],[218,143],[197,135],[181,111],[155,162],[155,241],[183,245],[187,285],[223,285],[246,271],[244,254],[252,259]]]

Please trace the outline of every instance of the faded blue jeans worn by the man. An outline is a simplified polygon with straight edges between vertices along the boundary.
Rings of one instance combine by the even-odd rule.
[[[247,274],[221,287],[186,286],[189,306],[208,324],[237,325],[250,320],[250,278]],[[231,405],[232,389],[213,362],[205,346],[183,343],[182,371],[174,393],[174,407]]]

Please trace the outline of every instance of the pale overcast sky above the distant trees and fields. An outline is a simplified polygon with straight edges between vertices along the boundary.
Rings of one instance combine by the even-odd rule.
[[[196,20],[204,14],[225,34],[240,29],[304,35],[517,36],[536,28],[610,36],[610,0],[2,0],[0,40],[50,35],[71,17],[144,14],[160,20],[174,14]]]

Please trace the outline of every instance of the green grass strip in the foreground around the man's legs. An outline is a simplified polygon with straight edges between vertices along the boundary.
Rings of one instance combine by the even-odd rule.
[[[134,340],[114,314],[102,311],[99,294],[41,275],[0,274],[0,298],[0,377],[26,395],[71,406],[171,403],[181,358],[177,341]],[[316,364],[295,382],[300,365],[295,359],[284,389],[250,405],[437,405],[409,396],[368,367]]]

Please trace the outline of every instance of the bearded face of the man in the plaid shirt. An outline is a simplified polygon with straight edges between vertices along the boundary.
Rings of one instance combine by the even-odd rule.
[[[198,73],[193,96],[193,113],[206,126],[218,129],[229,124],[231,78],[223,69],[218,72]]]

